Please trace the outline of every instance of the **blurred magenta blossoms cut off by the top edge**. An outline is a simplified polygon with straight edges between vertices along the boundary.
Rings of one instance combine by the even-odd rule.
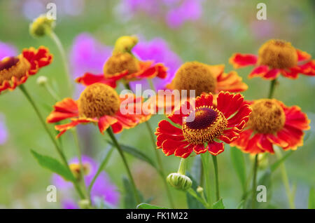
[[[198,20],[202,15],[202,0],[123,0],[124,13],[165,17],[169,27],[176,29],[187,21]]]

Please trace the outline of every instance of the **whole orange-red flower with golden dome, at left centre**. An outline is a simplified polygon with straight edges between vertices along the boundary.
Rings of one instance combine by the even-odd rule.
[[[151,115],[142,109],[142,102],[141,97],[118,96],[111,86],[94,83],[83,90],[77,101],[65,98],[57,102],[46,121],[56,123],[64,119],[71,120],[70,123],[55,126],[55,129],[60,132],[57,137],[81,123],[95,123],[101,133],[110,126],[113,133],[120,133],[124,128],[133,128],[150,119]],[[125,107],[129,112],[130,109],[132,111],[127,114],[122,113],[121,107]]]

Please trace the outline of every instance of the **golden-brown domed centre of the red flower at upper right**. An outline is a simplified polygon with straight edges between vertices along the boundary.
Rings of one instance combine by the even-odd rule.
[[[269,40],[258,51],[258,64],[284,69],[297,65],[297,53],[291,43],[282,40]]]

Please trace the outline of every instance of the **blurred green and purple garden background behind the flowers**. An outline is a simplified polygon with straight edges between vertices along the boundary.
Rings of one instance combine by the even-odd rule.
[[[29,23],[47,11],[45,6],[49,2],[57,5],[55,33],[66,48],[70,62],[73,61],[73,42],[82,33],[97,41],[100,44],[97,48],[109,52],[122,35],[137,34],[141,41],[160,38],[179,60],[197,60],[211,65],[224,63],[225,71],[232,69],[228,64],[232,53],[257,53],[260,45],[268,39],[290,41],[296,48],[307,51],[313,57],[315,55],[315,1],[312,0],[263,1],[267,5],[267,20],[256,19],[256,6],[261,1],[251,0],[1,0],[0,43],[11,44],[17,52],[29,46],[44,45],[55,55],[52,65],[42,69],[26,83],[39,104],[54,104],[47,91],[36,84],[36,77],[40,75],[47,76],[62,97],[69,96],[66,95],[64,69],[55,44],[48,37],[34,39],[29,35]],[[79,65],[71,63],[71,72],[80,75],[75,73],[78,72],[76,66]],[[267,97],[269,82],[247,79],[250,70],[237,71],[249,86],[245,97],[248,100]],[[279,81],[274,97],[289,106],[297,104],[311,119],[311,130],[305,135],[303,147],[286,161],[290,183],[296,185],[295,205],[297,208],[307,208],[309,189],[315,185],[315,79],[300,75],[297,80],[281,77]],[[43,107],[41,112],[47,116],[49,112]],[[151,125],[155,128],[160,119],[162,116],[153,117]],[[97,128],[92,126],[83,126],[79,132],[84,154],[101,161],[109,149],[106,136],[100,135]],[[57,154],[33,109],[18,89],[0,95],[0,134],[0,207],[61,208],[61,194],[57,197],[57,203],[46,201],[46,187],[51,184],[52,173],[38,165],[30,149],[55,157]],[[118,137],[121,143],[130,144],[155,157],[144,125],[124,130]],[[67,157],[76,156],[71,134],[64,135],[64,148]],[[162,151],[160,153],[162,155]],[[168,206],[164,187],[155,170],[132,156],[127,155],[127,158],[136,184],[144,196],[152,198],[151,203]],[[193,165],[194,159],[191,158],[190,165]],[[274,156],[269,156],[270,163],[274,160]],[[162,161],[167,173],[171,173],[177,170],[180,158],[163,156]],[[247,154],[246,163],[249,170],[251,160]],[[218,165],[225,206],[236,208],[241,199],[241,185],[232,168],[228,148],[218,156]],[[116,151],[105,170],[113,184],[117,185],[123,201],[122,177],[125,169]],[[269,190],[272,191],[269,208],[288,208],[279,170],[272,175],[272,187],[268,188],[268,193]],[[176,208],[187,208],[185,194],[174,189],[172,192],[176,198]],[[123,202],[118,208],[123,208]]]

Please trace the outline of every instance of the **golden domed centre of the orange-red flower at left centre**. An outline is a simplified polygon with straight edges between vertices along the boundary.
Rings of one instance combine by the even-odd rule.
[[[100,118],[113,116],[120,108],[120,99],[116,90],[104,83],[87,86],[78,100],[79,116]]]

